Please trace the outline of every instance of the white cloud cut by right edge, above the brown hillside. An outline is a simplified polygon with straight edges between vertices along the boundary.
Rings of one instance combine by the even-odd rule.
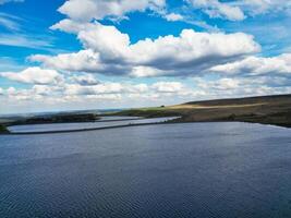
[[[223,74],[291,75],[291,53],[283,53],[271,58],[247,57],[241,61],[216,65],[210,71]]]

